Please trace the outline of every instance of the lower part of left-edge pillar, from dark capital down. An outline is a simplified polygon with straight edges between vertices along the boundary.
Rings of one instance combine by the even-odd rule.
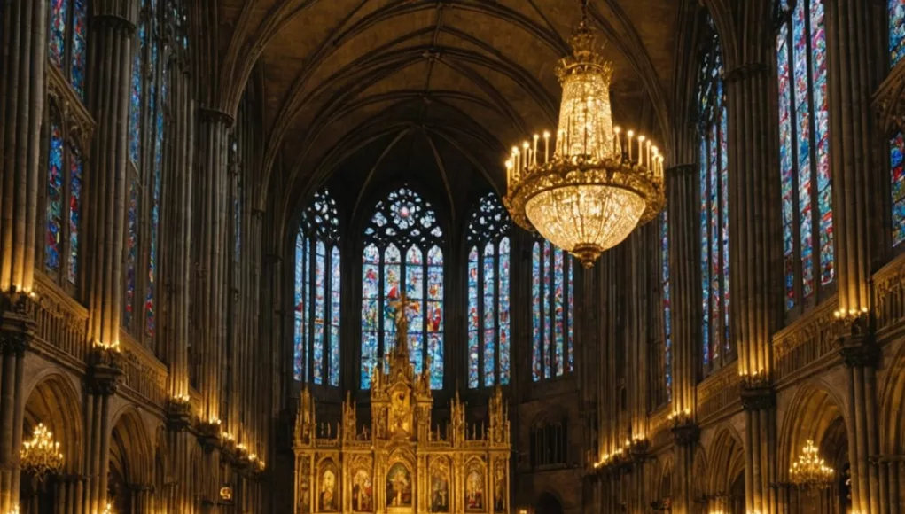
[[[0,294],[0,512],[19,500],[25,350],[34,337],[33,300],[22,293]]]

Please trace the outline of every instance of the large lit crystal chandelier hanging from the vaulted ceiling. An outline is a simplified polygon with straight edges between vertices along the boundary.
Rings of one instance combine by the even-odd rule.
[[[613,65],[595,51],[587,0],[582,11],[572,55],[557,66],[563,100],[553,153],[549,132],[542,149],[537,134],[513,147],[503,203],[519,226],[537,230],[589,268],[638,224],[660,214],[666,198],[658,148],[649,138],[613,126]]]

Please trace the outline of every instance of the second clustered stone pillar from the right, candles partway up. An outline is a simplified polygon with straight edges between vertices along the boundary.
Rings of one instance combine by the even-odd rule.
[[[757,24],[752,20],[748,24]],[[767,18],[763,20],[767,21]],[[748,26],[746,24],[746,26]],[[752,29],[754,30],[754,29]],[[765,29],[766,30],[766,29]],[[729,247],[733,301],[732,338],[742,375],[745,407],[745,500],[752,512],[773,512],[770,484],[776,481],[775,393],[770,382],[770,334],[776,328],[774,230],[779,184],[776,145],[770,127],[770,67],[742,64],[726,73],[729,110]]]

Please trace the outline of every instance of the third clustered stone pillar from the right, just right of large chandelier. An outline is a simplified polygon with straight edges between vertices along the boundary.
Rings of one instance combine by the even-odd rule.
[[[672,511],[691,513],[691,479],[697,425],[694,424],[700,327],[700,241],[698,167],[687,164],[666,170],[672,292],[672,422],[675,472]]]

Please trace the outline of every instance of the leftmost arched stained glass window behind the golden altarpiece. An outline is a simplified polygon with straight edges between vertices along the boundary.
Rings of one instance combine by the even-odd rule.
[[[329,190],[302,214],[295,253],[295,379],[339,386],[339,214]]]

